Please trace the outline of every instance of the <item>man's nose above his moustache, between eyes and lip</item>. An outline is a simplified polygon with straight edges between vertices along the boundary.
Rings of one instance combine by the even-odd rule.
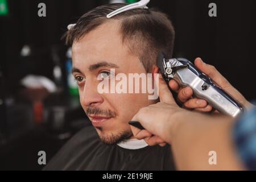
[[[99,106],[104,101],[101,94],[97,90],[97,82],[87,80],[84,90],[80,93],[80,101],[83,106]]]

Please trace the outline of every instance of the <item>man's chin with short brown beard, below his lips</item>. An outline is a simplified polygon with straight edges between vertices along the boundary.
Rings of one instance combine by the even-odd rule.
[[[121,142],[122,140],[129,139],[133,134],[131,131],[123,131],[116,133],[106,133],[102,131],[102,129],[98,129],[96,127],[97,133],[101,139],[101,141],[105,144],[112,145]]]

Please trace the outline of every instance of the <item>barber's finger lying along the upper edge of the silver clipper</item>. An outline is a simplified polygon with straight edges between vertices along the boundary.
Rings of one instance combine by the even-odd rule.
[[[231,86],[228,80],[226,80],[226,78],[222,76],[213,65],[205,64],[200,57],[196,58],[195,65],[201,72],[212,78],[212,80],[222,88]]]

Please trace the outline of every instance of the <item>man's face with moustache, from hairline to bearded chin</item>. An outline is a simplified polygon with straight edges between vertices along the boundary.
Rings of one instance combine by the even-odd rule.
[[[118,73],[145,73],[139,58],[122,43],[118,23],[101,24],[72,46],[73,76],[79,85],[81,106],[103,142],[117,143],[131,137],[128,122],[144,106],[154,103],[148,94],[102,93],[97,90],[101,80],[110,80],[115,68]],[[110,81],[109,81],[110,82]],[[118,82],[118,81],[115,81]]]

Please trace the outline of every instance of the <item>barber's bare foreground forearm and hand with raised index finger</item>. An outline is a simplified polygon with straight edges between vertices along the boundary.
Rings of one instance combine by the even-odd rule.
[[[180,108],[163,78],[159,97],[160,102],[143,107],[133,117],[146,129],[131,126],[136,138],[150,145],[170,143],[178,169],[243,169],[232,140],[232,118]],[[209,151],[217,152],[216,165],[209,164]]]

